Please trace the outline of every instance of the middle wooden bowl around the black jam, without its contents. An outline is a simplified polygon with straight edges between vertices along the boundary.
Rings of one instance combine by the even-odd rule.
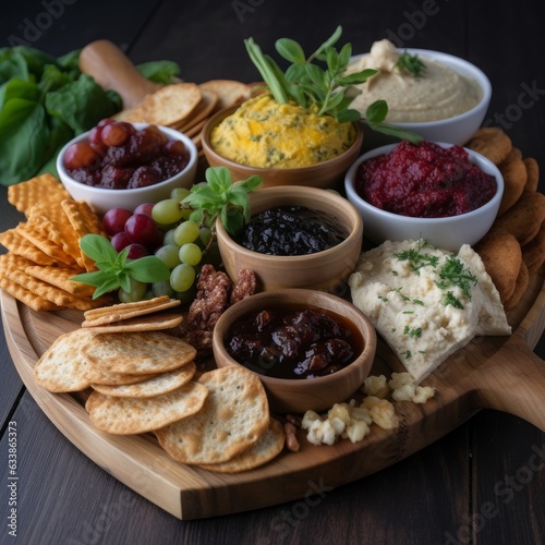
[[[356,208],[337,193],[316,187],[278,186],[250,194],[252,214],[277,206],[301,205],[336,218],[349,232],[340,244],[308,255],[276,256],[246,250],[216,223],[218,247],[229,277],[237,281],[239,270],[249,268],[257,277],[258,289],[307,288],[339,293],[354,269],[362,250],[363,220]]]

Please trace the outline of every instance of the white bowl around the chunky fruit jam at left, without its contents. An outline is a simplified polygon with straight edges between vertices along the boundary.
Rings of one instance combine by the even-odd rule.
[[[144,129],[149,123],[132,123],[136,129]],[[146,187],[136,187],[131,190],[108,190],[105,187],[95,187],[74,180],[64,168],[62,158],[66,149],[74,144],[88,137],[89,132],[80,134],[71,140],[59,153],[57,157],[57,171],[59,178],[72,198],[76,201],[86,201],[93,206],[94,210],[104,215],[110,208],[128,208],[133,210],[143,203],[156,203],[168,198],[174,187],[191,187],[195,180],[197,170],[198,152],[193,141],[185,134],[167,126],[157,125],[158,129],[167,135],[169,140],[182,141],[185,149],[190,154],[190,160],[186,167],[178,174]]]

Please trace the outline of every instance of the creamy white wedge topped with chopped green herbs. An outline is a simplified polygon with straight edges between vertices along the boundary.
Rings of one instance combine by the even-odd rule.
[[[424,241],[386,241],[362,253],[349,278],[352,302],[417,384],[475,336],[510,335],[499,293],[480,255]]]

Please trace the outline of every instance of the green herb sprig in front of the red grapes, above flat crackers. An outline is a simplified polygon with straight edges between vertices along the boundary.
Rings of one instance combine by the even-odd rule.
[[[169,268],[155,255],[129,259],[129,249],[118,253],[111,242],[99,234],[86,234],[80,246],[98,270],[76,275],[72,280],[95,286],[93,299],[119,288],[129,292],[132,280],[150,283],[167,280],[170,276]]]

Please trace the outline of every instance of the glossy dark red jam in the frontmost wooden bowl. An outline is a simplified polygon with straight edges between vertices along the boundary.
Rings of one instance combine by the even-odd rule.
[[[235,322],[228,353],[246,367],[276,378],[330,375],[360,353],[361,336],[341,316],[317,308],[268,308]]]

